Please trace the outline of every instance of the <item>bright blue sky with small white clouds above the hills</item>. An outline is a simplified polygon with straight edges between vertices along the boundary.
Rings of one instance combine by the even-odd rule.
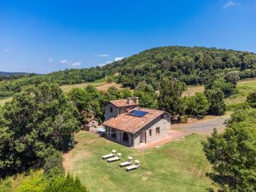
[[[104,65],[165,45],[256,53],[256,0],[0,0],[0,71]]]

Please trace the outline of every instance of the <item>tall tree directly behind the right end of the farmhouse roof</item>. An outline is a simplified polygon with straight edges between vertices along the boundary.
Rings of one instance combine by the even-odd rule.
[[[184,82],[163,79],[159,83],[159,109],[170,112],[172,115],[183,114],[184,104],[181,101],[181,94],[185,90]]]

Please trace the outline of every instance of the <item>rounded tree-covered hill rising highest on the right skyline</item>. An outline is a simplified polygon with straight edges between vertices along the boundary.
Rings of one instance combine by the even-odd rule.
[[[156,47],[102,67],[118,72],[118,82],[135,88],[146,81],[157,89],[163,77],[173,77],[187,85],[202,85],[230,70],[240,72],[241,79],[255,77],[255,53],[206,47]]]

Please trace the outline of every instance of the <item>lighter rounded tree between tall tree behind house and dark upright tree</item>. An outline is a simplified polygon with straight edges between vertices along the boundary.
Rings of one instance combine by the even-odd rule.
[[[187,112],[191,115],[203,115],[208,111],[209,103],[203,93],[195,93],[187,99]]]

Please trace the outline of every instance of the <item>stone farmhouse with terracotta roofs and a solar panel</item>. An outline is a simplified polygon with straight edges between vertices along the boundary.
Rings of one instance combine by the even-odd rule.
[[[128,147],[167,137],[170,115],[139,107],[139,98],[109,101],[105,106],[106,137]]]

